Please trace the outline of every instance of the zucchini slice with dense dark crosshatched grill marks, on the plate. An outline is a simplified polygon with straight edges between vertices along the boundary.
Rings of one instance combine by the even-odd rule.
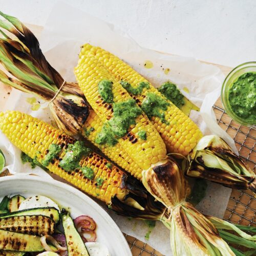
[[[54,233],[55,223],[50,217],[42,215],[12,216],[0,219],[0,229],[45,236]]]

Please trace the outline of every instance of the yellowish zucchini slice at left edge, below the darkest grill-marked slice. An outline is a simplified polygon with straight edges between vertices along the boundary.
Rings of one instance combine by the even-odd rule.
[[[44,251],[40,237],[0,229],[0,250],[33,252]]]

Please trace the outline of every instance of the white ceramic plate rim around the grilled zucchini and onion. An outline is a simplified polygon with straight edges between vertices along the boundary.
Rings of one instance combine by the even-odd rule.
[[[59,207],[71,212],[72,218],[88,215],[97,223],[97,242],[105,244],[111,255],[131,256],[122,232],[111,217],[91,198],[76,188],[55,180],[36,176],[0,178],[0,200],[7,195],[25,197],[42,195],[51,198]]]

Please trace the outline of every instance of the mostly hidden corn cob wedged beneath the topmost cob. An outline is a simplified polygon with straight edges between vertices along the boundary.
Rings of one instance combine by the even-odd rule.
[[[100,118],[92,109],[90,109],[90,114],[82,130],[82,136],[87,138],[95,146],[100,147],[101,152],[108,156],[117,165],[125,169],[137,179],[141,180],[142,169],[135,161],[130,158],[130,156],[126,153],[120,143],[117,143],[113,146],[105,146],[99,145],[95,142],[97,135],[102,129],[102,126],[103,123]]]

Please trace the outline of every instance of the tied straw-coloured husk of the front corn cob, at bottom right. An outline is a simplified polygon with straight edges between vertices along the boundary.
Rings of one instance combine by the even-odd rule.
[[[230,226],[225,221],[219,222],[218,218],[205,217],[185,201],[185,178],[173,159],[144,171],[142,182],[167,209],[169,217],[164,215],[161,221],[170,229],[174,255],[235,255],[219,233],[223,227],[228,229]],[[246,241],[255,241],[254,237],[247,237],[242,230],[238,230]]]

